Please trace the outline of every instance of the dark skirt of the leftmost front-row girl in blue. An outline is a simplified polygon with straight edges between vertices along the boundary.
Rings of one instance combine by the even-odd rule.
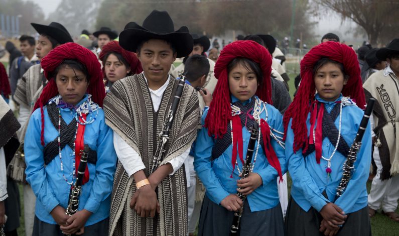
[[[107,236],[108,227],[109,227],[109,218],[106,218],[95,224],[84,227],[84,233],[81,235]],[[61,232],[60,225],[46,223],[44,221],[41,221],[35,215],[35,222],[33,223],[32,236],[40,236],[40,235],[65,236],[65,234]]]

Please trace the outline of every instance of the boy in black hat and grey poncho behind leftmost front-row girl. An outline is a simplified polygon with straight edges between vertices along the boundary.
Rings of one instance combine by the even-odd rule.
[[[38,44],[36,46],[36,56],[39,60],[42,60],[52,49],[55,47],[73,42],[73,39],[69,32],[63,25],[57,22],[52,22],[48,26],[31,23],[32,27],[40,34]],[[26,128],[28,127],[29,117],[32,113],[33,105],[39,98],[43,86],[46,85],[47,79],[44,77],[43,70],[40,64],[31,66],[26,73],[22,76],[22,79],[18,80],[17,89],[13,96],[14,100],[20,104],[18,121],[21,123],[21,129],[19,130],[18,138],[21,143],[24,142]],[[21,156],[15,156],[10,165],[14,163],[24,163]],[[23,173],[24,171],[19,170],[20,165],[14,165],[14,173]],[[26,182],[23,176],[17,179],[21,182]],[[25,217],[25,231],[32,233],[33,222],[35,217],[35,204],[36,196],[32,191],[30,185],[24,184],[24,217]]]

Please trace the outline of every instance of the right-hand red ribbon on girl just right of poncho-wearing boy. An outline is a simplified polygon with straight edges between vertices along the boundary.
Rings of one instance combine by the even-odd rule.
[[[263,136],[263,146],[264,146],[264,153],[266,154],[266,158],[271,166],[273,166],[277,173],[279,174],[280,180],[279,182],[283,182],[283,174],[281,172],[281,166],[279,159],[277,158],[276,152],[272,147],[272,143],[270,141],[270,128],[269,124],[261,119],[260,120],[260,132]]]

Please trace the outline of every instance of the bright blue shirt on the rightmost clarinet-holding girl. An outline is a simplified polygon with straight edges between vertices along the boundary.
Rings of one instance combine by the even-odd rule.
[[[336,100],[341,100],[342,95]],[[316,99],[324,103],[328,112],[331,112],[335,105],[340,105],[336,101],[324,101],[319,95]],[[344,138],[349,147],[352,145],[359,129],[360,121],[364,112],[357,107],[344,106],[342,107],[342,124],[341,136]],[[293,152],[294,133],[291,129],[291,122],[288,125],[287,139],[286,139],[286,157],[288,164],[288,171],[292,177],[291,196],[301,206],[302,209],[308,211],[313,206],[317,211],[320,211],[327,202],[334,202],[335,194],[337,192],[338,184],[342,177],[342,166],[346,161],[346,156],[343,156],[338,151],[335,152],[331,159],[331,178],[327,177],[326,165],[327,161],[321,159],[320,164],[316,162],[315,152],[303,157],[302,149],[296,153]],[[308,137],[310,133],[310,113],[306,121],[308,127]],[[317,126],[317,124],[316,124]],[[339,115],[335,120],[335,126],[338,129]],[[330,143],[326,137],[322,142],[322,155],[329,158],[334,151],[336,144]],[[341,207],[345,213],[351,213],[367,206],[367,190],[366,182],[371,163],[371,132],[370,124],[362,139],[362,146],[357,154],[357,160],[354,164],[355,171],[350,179],[345,192],[334,203]],[[326,190],[328,198],[325,198],[322,193]]]

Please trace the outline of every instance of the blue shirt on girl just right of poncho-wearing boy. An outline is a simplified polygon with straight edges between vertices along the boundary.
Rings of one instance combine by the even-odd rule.
[[[232,101],[237,101],[237,98],[232,97]],[[269,104],[267,104],[266,107],[269,114],[267,120],[268,124],[275,130],[284,132],[283,117],[280,114],[279,110]],[[204,126],[205,124],[205,117],[207,113],[208,108],[206,107],[201,117],[202,126]],[[260,118],[265,120],[265,111],[260,114]],[[245,160],[250,138],[250,133],[248,132],[246,127],[242,128],[242,138],[242,156]],[[271,141],[273,149],[275,150],[276,155],[280,161],[281,170],[284,174],[287,171],[284,149],[272,137]],[[237,180],[240,178],[238,177],[237,168],[234,169],[233,178],[230,178],[233,168],[231,164],[232,145],[230,144],[230,146],[219,158],[211,161],[211,153],[214,144],[214,137],[208,136],[208,129],[203,127],[201,130],[198,131],[195,145],[194,169],[197,172],[200,180],[205,185],[206,195],[216,204],[220,204],[220,202],[230,193],[237,193]],[[257,142],[255,143],[255,148],[256,145]],[[254,155],[255,151],[253,153],[253,156]],[[239,169],[242,170],[242,163],[239,161],[238,154],[237,163]],[[261,145],[259,145],[259,151],[257,154],[253,172],[259,174],[263,183],[246,198],[248,199],[251,211],[253,212],[275,207],[280,202],[279,193],[277,190],[278,173],[277,170],[269,164]]]

